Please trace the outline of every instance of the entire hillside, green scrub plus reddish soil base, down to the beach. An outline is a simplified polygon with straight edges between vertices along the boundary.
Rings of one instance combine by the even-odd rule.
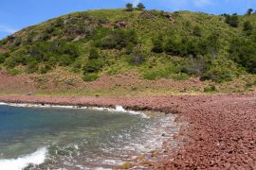
[[[10,79],[0,90],[253,91],[255,27],[256,14],[217,16],[123,8],[71,13],[0,41],[2,79]],[[22,88],[17,83],[33,87],[16,91]]]

